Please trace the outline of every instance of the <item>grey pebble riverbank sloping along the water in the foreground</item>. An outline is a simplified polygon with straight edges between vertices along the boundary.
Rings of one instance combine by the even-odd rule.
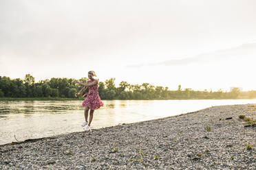
[[[0,145],[0,169],[253,169],[256,129],[239,115],[255,119],[256,106],[215,106]]]

